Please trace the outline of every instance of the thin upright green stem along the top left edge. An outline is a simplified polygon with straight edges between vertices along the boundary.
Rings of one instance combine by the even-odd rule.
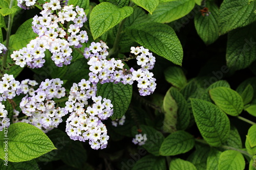
[[[13,1],[10,1],[10,5],[9,8],[12,8],[13,5]],[[6,47],[7,47],[7,52],[3,58],[3,67],[6,67],[6,61],[7,61],[7,56],[8,56],[8,48],[9,48],[9,40],[10,40],[10,36],[11,36],[11,29],[12,29],[12,22],[13,22],[13,14],[9,15],[9,19],[8,19],[8,28],[7,28],[7,33],[6,33]]]

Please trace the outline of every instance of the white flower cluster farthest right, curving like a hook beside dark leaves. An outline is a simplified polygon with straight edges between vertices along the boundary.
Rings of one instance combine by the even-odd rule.
[[[123,84],[133,84],[134,81],[138,82],[138,88],[140,95],[149,95],[156,89],[156,79],[153,78],[153,73],[149,70],[154,67],[155,57],[152,53],[148,52],[148,49],[141,47],[132,47],[131,53],[137,56],[137,64],[141,66],[140,69],[134,70],[131,68],[127,70],[123,68],[124,64],[122,60],[106,60],[108,52],[106,49],[108,46],[104,42],[101,43],[92,42],[89,48],[84,49],[84,57],[89,59],[88,64],[90,65],[90,81],[93,84],[98,82],[109,83],[109,82],[122,82]]]

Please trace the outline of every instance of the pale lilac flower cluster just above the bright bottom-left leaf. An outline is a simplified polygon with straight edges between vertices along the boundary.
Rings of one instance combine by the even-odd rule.
[[[68,112],[65,108],[55,107],[53,98],[61,98],[65,96],[65,88],[61,87],[63,81],[60,79],[46,79],[41,82],[39,88],[29,97],[26,95],[19,106],[22,112],[27,116],[31,116],[28,120],[24,120],[39,129],[47,132],[53,128],[57,128],[62,122],[62,116]]]

